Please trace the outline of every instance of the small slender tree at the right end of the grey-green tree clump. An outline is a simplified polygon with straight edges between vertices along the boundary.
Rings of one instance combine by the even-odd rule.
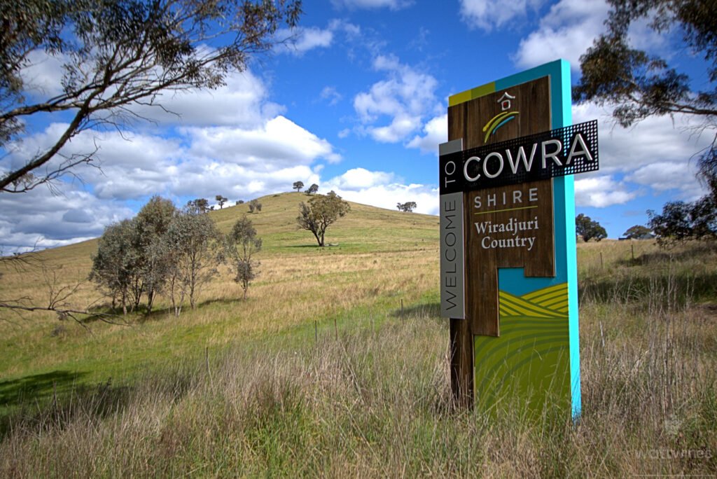
[[[237,219],[232,231],[227,234],[225,241],[229,267],[234,272],[234,281],[244,290],[244,299],[247,299],[249,285],[257,277],[260,262],[253,259],[255,253],[262,249],[262,240],[257,237],[257,230],[247,217]]]

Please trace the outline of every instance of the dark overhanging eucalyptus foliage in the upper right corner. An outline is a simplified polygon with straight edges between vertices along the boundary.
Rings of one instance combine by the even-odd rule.
[[[694,131],[713,138],[698,152],[698,168],[717,203],[717,3],[709,0],[608,0],[606,32],[580,57],[573,97],[612,108],[622,126],[653,115],[690,116]],[[659,57],[630,43],[638,28],[677,43],[680,54]],[[693,70],[680,69],[690,57]],[[689,153],[688,153],[689,154]]]

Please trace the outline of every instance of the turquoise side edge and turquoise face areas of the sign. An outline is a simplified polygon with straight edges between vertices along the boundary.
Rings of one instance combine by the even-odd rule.
[[[551,128],[562,128],[571,125],[570,64],[566,60],[546,63],[545,65],[516,73],[516,75],[495,80],[492,84],[484,85],[484,87],[495,85],[493,91],[505,90],[546,76],[550,78]],[[480,88],[478,87],[476,90]],[[573,417],[576,418],[581,414],[582,400],[575,240],[575,188],[573,176],[561,176],[553,181],[556,277],[525,278],[523,268],[503,268],[498,270],[498,285],[501,290],[508,291],[508,293],[523,295],[559,283],[568,284],[571,409]]]

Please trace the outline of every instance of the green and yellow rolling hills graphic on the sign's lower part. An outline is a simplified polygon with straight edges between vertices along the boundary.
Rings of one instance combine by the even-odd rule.
[[[499,292],[500,336],[475,337],[475,394],[481,409],[528,401],[569,407],[568,285],[522,296]]]

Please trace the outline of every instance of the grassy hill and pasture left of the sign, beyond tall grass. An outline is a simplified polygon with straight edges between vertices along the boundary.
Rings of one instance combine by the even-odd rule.
[[[249,214],[246,204],[209,213],[222,232],[247,214],[262,237],[260,275],[246,301],[222,268],[200,293],[199,307],[190,310],[185,304],[179,318],[168,313],[166,298],[159,298],[148,317],[118,316],[117,324],[90,318],[84,323],[89,332],[52,313],[18,316],[0,308],[0,376],[62,371],[71,379],[68,384],[130,380],[153,365],[201,354],[205,347],[251,343],[289,330],[300,331],[290,341],[302,341],[313,338],[314,321],[317,328],[333,328],[337,320],[340,328],[352,311],[385,313],[386,305],[398,308],[401,300],[407,305],[437,300],[437,217],[352,203],[351,212],[327,230],[326,242],[336,246],[320,248],[310,232],[295,226],[298,204],[307,200],[305,194],[277,194],[259,199],[260,213]],[[86,280],[96,247],[92,240],[47,250],[38,255],[42,265],[6,270],[1,295],[47,305],[51,291],[77,288],[68,299],[73,308],[106,310],[108,299]],[[2,396],[0,387],[0,403]]]

